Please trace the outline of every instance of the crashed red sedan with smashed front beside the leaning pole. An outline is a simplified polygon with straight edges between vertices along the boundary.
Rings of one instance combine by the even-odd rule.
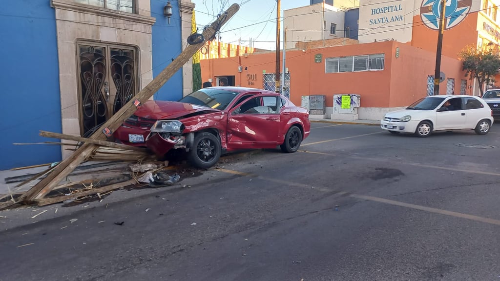
[[[148,100],[114,137],[160,156],[185,149],[192,165],[207,168],[223,152],[277,145],[283,152],[295,152],[309,132],[309,113],[286,97],[225,86],[202,88],[179,101]]]

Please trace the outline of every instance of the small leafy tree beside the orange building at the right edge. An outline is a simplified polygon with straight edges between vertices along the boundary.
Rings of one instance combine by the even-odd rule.
[[[494,76],[500,73],[500,56],[490,49],[482,49],[475,44],[463,48],[458,57],[463,63],[465,77],[476,78],[479,83],[481,96],[484,93],[484,83],[489,85],[494,82]]]

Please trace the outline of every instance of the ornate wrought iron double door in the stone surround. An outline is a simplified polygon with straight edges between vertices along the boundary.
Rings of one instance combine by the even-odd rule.
[[[81,135],[93,132],[137,93],[136,69],[133,48],[78,45]]]

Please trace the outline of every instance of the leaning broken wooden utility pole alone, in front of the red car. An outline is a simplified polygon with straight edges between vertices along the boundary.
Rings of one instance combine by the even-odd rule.
[[[151,82],[140,90],[130,101],[128,101],[120,110],[118,110],[109,120],[107,120],[100,130],[95,131],[90,138],[105,140],[104,133],[113,132],[123,121],[135,112],[137,105],[149,99],[189,58],[209,39],[212,39],[215,32],[226,23],[237,11],[239,5],[232,4],[223,12],[217,20],[208,26],[202,33],[203,38],[199,43],[188,45],[168,66],[163,69]],[[104,133],[103,133],[104,132]],[[55,169],[44,179],[40,180],[26,193],[20,196],[19,201],[31,202],[33,199],[40,199],[56,186],[64,177],[66,177],[76,166],[83,162],[90,153],[96,148],[93,143],[85,142],[71,156],[60,162]]]

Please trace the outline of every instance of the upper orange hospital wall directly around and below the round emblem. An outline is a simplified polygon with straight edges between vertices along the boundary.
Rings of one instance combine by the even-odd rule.
[[[437,30],[432,30],[422,23],[420,15],[413,16],[412,40],[408,42],[414,47],[431,51],[435,54],[437,47]],[[458,53],[468,44],[477,43],[477,12],[471,12],[458,25],[444,30],[442,54],[458,58]],[[435,55],[434,55],[435,56]]]

